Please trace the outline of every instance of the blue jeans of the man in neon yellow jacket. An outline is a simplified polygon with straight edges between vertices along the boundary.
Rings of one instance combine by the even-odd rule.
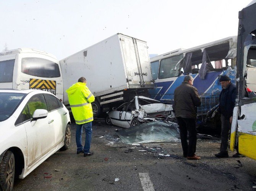
[[[84,149],[82,145],[82,133],[83,128],[85,130],[85,143]],[[77,151],[83,151],[84,153],[89,153],[91,147],[92,140],[92,122],[84,123],[84,124],[76,124],[76,146]]]

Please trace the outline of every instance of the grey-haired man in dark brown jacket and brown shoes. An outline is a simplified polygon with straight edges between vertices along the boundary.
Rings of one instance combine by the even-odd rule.
[[[201,104],[198,91],[193,87],[193,77],[186,75],[184,81],[174,91],[175,117],[180,128],[180,140],[183,156],[190,160],[199,160],[196,152],[196,107]],[[187,142],[189,133],[189,143]]]

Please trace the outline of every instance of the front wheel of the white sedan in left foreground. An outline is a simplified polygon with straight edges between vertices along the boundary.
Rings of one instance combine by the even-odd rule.
[[[15,175],[15,158],[11,151],[6,151],[0,163],[0,183],[3,190],[13,189]]]

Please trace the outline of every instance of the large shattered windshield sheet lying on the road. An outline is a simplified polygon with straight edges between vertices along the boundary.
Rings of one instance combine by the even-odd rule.
[[[177,123],[154,121],[143,123],[129,129],[122,129],[117,135],[126,144],[180,142],[180,132]]]

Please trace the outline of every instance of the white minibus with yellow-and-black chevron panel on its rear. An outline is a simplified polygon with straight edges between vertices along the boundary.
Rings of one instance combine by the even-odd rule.
[[[31,48],[0,53],[0,89],[41,89],[63,100],[62,72],[52,54]]]

